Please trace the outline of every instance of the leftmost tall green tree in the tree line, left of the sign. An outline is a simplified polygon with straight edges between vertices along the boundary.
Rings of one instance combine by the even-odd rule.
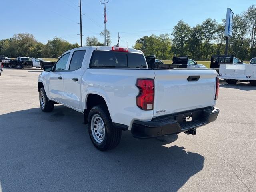
[[[183,20],[180,20],[173,28],[172,36],[174,37],[172,42],[175,46],[174,54],[186,55],[188,54],[187,41],[190,34],[190,26]]]

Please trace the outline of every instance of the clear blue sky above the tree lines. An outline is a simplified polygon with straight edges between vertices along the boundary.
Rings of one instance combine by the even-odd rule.
[[[16,33],[31,33],[42,43],[61,37],[71,43],[80,43],[79,0],[1,0],[0,39],[10,38]],[[221,22],[226,9],[240,14],[255,0],[110,0],[106,4],[106,28],[110,30],[112,45],[118,40],[120,46],[129,47],[145,35],[171,34],[172,28],[183,19],[190,26],[206,18]],[[100,0],[82,0],[83,42],[87,36],[99,35],[104,29],[104,6]]]

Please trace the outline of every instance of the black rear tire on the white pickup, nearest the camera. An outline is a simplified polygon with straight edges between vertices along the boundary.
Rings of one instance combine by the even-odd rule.
[[[101,120],[97,121],[95,117],[98,118],[98,116],[101,118]],[[94,122],[92,122],[93,120]],[[99,129],[99,126],[97,127],[96,125],[99,125],[100,123],[104,124],[104,134],[102,136],[103,139],[96,136],[97,133],[100,133],[96,132],[96,130]],[[106,106],[103,105],[94,106],[90,110],[88,115],[88,132],[90,135],[90,139],[92,140],[92,144],[101,151],[115,148],[120,143],[122,136],[122,130],[113,126],[108,109],[106,108]],[[99,142],[100,139],[102,140],[101,142]]]

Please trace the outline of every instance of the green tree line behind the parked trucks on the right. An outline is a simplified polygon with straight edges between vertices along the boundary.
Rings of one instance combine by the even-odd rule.
[[[180,20],[170,34],[144,36],[136,41],[135,49],[145,55],[156,55],[161,60],[171,60],[172,56],[192,56],[196,60],[209,60],[213,54],[224,54],[225,20],[206,19],[194,27]],[[256,5],[234,16],[233,34],[228,46],[228,54],[242,60],[256,56]]]

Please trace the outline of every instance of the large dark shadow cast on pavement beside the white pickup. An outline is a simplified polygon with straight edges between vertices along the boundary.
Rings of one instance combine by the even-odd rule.
[[[202,170],[204,157],[171,144],[177,135],[94,148],[83,114],[62,105],[0,115],[2,191],[177,191]]]

